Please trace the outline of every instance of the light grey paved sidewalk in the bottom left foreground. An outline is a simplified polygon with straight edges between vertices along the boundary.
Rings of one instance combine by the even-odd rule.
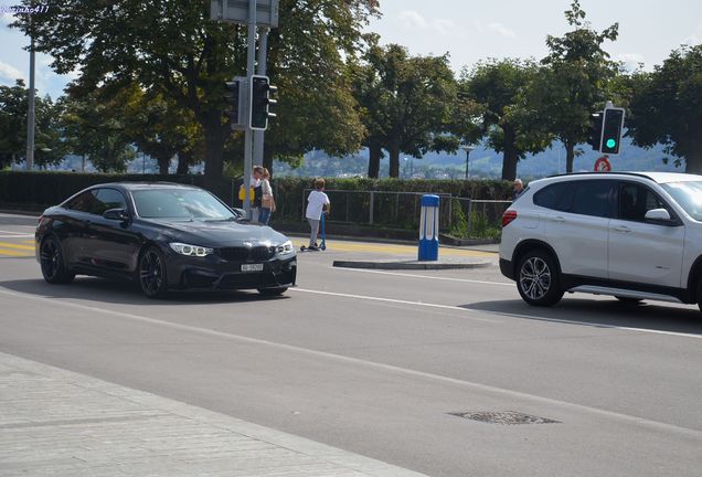
[[[421,476],[4,353],[0,353],[0,475]]]

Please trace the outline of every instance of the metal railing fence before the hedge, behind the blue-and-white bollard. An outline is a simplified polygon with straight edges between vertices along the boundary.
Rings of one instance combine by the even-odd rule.
[[[301,219],[305,220],[307,197],[301,197]],[[425,192],[326,190],[331,202],[327,219],[336,223],[379,225],[392,229],[418,230],[422,195]],[[438,193],[442,198],[439,226],[457,236],[498,237],[502,213],[510,201],[472,200]]]

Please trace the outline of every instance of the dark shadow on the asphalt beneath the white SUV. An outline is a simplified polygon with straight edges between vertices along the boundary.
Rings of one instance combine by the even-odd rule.
[[[684,332],[702,336],[702,315],[696,306],[683,308],[644,301],[628,305],[615,298],[578,299],[565,297],[551,308],[530,307],[522,300],[481,301],[461,308],[488,311],[515,319],[559,321],[593,327],[628,327],[655,331]]]

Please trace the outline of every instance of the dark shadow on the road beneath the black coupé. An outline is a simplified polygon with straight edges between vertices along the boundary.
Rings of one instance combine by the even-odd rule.
[[[246,303],[287,299],[286,296],[267,297],[256,290],[235,292],[171,292],[166,297],[149,299],[136,285],[95,277],[76,277],[71,285],[50,285],[43,279],[0,282],[0,287],[11,292],[46,298],[70,298],[117,305],[202,305],[208,303]]]

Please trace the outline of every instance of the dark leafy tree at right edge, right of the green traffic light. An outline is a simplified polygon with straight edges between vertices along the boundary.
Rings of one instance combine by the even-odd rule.
[[[684,158],[687,172],[702,173],[702,45],[674,50],[652,73],[631,81],[627,135],[634,144],[662,144],[667,153]]]

